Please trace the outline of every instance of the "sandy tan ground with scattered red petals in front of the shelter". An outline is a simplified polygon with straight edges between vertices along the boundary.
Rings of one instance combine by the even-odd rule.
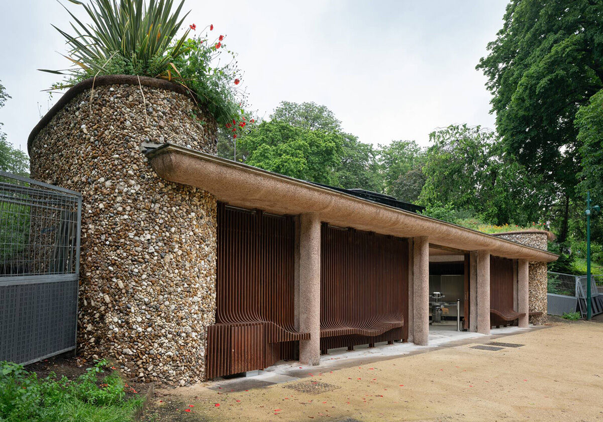
[[[476,340],[249,391],[159,391],[144,420],[603,421],[603,324],[558,322],[497,341],[523,347],[470,348]],[[287,388],[305,382],[334,389]]]

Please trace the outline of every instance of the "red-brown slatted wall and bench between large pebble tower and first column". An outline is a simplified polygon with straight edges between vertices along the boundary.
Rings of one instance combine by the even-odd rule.
[[[294,327],[295,225],[290,217],[218,204],[216,323],[207,329],[206,376],[295,359],[308,333]]]

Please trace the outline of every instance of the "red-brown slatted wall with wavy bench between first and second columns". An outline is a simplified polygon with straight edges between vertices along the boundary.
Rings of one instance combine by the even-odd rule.
[[[321,230],[321,351],[408,338],[408,242]]]

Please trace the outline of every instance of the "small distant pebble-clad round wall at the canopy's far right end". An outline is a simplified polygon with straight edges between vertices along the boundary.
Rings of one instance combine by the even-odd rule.
[[[546,251],[548,249],[548,232],[526,232],[526,233],[497,233],[496,236],[517,242],[532,248]],[[546,262],[529,263],[529,311],[542,312],[540,316],[531,316],[529,322],[535,325],[546,323]]]

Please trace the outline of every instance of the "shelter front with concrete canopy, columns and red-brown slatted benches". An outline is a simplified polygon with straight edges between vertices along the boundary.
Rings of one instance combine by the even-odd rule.
[[[160,177],[221,201],[208,378],[279,359],[318,365],[333,348],[428,345],[430,264],[441,268],[446,257],[461,268],[440,275],[454,277],[444,281],[463,329],[488,334],[518,318],[527,327],[528,264],[557,259],[377,194],[360,197],[177,145],[146,154]],[[431,250],[440,251],[438,262]]]

